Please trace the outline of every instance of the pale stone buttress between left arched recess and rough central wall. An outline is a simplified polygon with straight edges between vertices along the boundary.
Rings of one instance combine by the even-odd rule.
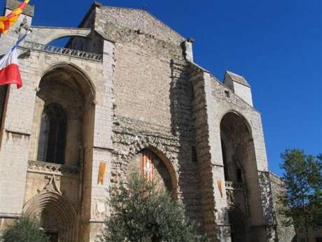
[[[114,44],[104,40],[103,51],[103,74],[102,81],[97,82],[97,98],[94,107],[94,137],[93,147],[90,156],[92,159],[91,167],[86,170],[85,176],[90,177],[90,184],[85,184],[84,189],[90,189],[90,192],[85,196],[87,210],[85,223],[87,231],[84,235],[85,241],[95,240],[95,236],[102,227],[106,215],[109,214],[109,207],[106,205],[108,190],[110,188],[111,177],[111,152],[112,146],[112,116],[113,116],[113,89],[112,75],[114,65]],[[99,165],[106,163],[106,177],[104,183],[98,182]],[[86,163],[86,161],[85,161]],[[87,173],[87,174],[86,174]]]

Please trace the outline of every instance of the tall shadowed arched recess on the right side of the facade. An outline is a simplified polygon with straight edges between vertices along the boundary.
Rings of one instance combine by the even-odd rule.
[[[248,241],[251,206],[247,189],[257,176],[257,166],[251,129],[237,112],[228,112],[221,120],[221,148],[232,242]]]

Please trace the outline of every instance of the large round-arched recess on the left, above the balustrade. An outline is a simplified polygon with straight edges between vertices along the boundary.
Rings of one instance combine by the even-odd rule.
[[[92,81],[78,67],[69,63],[49,67],[36,93],[38,133],[31,160],[79,166],[92,142],[94,98]]]

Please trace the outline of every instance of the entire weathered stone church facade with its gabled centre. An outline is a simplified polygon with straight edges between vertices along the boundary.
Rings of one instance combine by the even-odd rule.
[[[26,18],[31,22],[30,16]],[[46,176],[55,183],[52,177],[57,175],[50,191],[69,201],[75,213],[81,211],[79,238],[94,241],[111,212],[104,203],[107,190],[118,187],[137,154],[148,149],[164,163],[172,195],[183,201],[200,233],[212,241],[231,241],[228,210],[236,196],[246,198],[242,203],[250,228],[246,241],[273,241],[274,189],[260,114],[191,63],[192,43],[187,48],[182,36],[146,11],[94,4],[80,27],[89,29],[36,27],[28,39],[45,44],[75,35],[67,46],[100,53],[102,62],[19,50],[24,54],[19,59],[24,87],[10,87],[0,150],[0,217],[18,217],[24,205],[29,208],[29,201],[47,192]],[[13,30],[1,36],[0,53],[18,37]],[[48,73],[52,78],[46,80]],[[41,80],[48,81],[52,93]],[[62,167],[35,161],[43,102],[52,101],[74,114],[69,119],[68,159]],[[237,128],[248,130],[248,135],[236,137],[245,144],[240,157],[247,161],[246,189],[234,191],[236,195],[226,193],[232,187],[225,187],[221,121],[228,113],[243,123]],[[104,184],[97,182],[101,162],[107,166]],[[70,174],[67,165],[76,166],[77,173]],[[17,179],[8,170],[14,170]]]

